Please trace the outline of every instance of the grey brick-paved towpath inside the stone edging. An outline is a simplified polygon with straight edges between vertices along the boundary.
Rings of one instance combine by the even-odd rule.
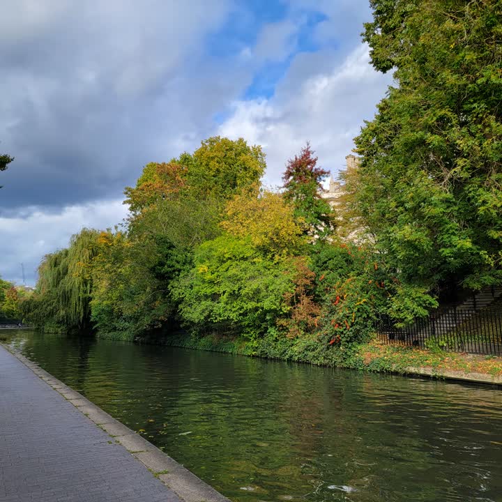
[[[0,347],[0,502],[180,502]]]

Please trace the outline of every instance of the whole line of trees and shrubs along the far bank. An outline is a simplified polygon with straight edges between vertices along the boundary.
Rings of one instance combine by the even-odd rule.
[[[25,319],[344,365],[382,315],[403,326],[452,290],[502,284],[501,6],[370,3],[363,38],[395,86],[337,204],[308,144],[272,189],[260,146],[211,137],[146,165],[123,225],[47,255]]]

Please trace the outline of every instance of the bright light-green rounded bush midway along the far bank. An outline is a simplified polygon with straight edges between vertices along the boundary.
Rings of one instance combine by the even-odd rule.
[[[195,332],[255,339],[287,311],[292,281],[286,260],[271,259],[250,238],[220,236],[195,251],[194,267],[173,285],[180,314]]]

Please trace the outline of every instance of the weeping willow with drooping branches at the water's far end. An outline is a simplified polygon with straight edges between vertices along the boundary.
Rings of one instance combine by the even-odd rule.
[[[24,319],[47,330],[82,330],[91,317],[91,267],[100,232],[82,229],[68,248],[46,254],[38,267],[36,294],[22,305]]]

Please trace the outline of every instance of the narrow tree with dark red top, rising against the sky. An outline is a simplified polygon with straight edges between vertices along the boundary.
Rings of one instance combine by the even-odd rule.
[[[284,197],[294,205],[296,218],[303,223],[305,234],[311,237],[319,238],[333,231],[331,208],[319,193],[328,174],[317,167],[317,157],[307,143],[300,155],[289,159],[282,176]]]

